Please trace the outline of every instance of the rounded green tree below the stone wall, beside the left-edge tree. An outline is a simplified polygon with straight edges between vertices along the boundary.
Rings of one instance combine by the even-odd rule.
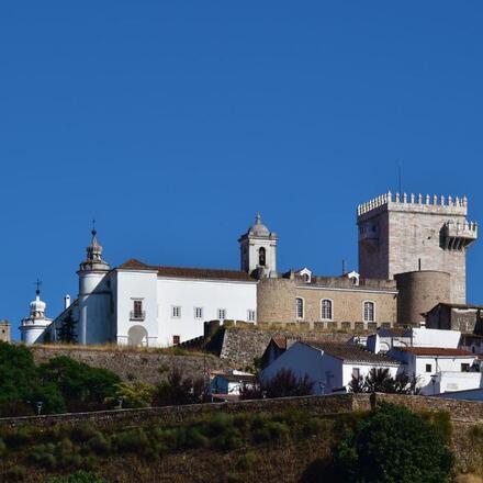
[[[68,411],[97,411],[106,407],[121,382],[117,374],[60,356],[40,366],[44,385],[54,384],[60,391]]]

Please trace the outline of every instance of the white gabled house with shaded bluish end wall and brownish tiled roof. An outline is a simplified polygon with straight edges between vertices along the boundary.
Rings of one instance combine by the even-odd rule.
[[[314,394],[329,394],[347,391],[353,375],[366,377],[372,368],[389,369],[395,377],[400,362],[351,344],[301,340],[263,369],[260,378],[268,380],[280,369],[290,369],[295,375],[307,374],[314,381]]]

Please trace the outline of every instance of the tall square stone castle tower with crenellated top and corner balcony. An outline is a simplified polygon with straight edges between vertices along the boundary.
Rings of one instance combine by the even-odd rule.
[[[450,274],[448,302],[465,303],[467,248],[478,238],[467,221],[463,198],[393,195],[375,198],[357,209],[359,272],[363,278],[434,270]]]

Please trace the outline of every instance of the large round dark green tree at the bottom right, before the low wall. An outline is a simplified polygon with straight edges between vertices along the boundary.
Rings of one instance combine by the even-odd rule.
[[[452,464],[441,433],[393,404],[347,429],[334,450],[336,474],[347,483],[445,483]]]

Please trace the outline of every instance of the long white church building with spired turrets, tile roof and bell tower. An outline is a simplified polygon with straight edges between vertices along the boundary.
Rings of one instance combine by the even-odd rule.
[[[116,268],[102,259],[96,229],[80,263],[78,297],[54,321],[38,293],[21,323],[25,344],[59,341],[74,318],[79,344],[167,347],[203,335],[206,321],[257,322],[257,278],[277,277],[277,235],[260,215],[239,238],[242,270],[157,267],[131,259]],[[37,311],[37,305],[42,311]]]

